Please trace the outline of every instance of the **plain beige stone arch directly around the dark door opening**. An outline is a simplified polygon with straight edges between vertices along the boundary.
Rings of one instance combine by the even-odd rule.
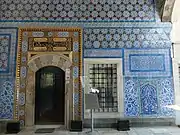
[[[63,72],[69,69],[70,74],[72,74],[71,70],[71,60],[69,57],[63,54],[42,54],[42,55],[35,55],[30,58],[28,62],[28,70],[27,70],[27,87],[26,87],[26,104],[25,104],[25,120],[26,126],[33,126],[35,124],[35,88],[36,88],[36,72],[38,70],[45,68],[45,67],[56,67],[60,68]],[[72,76],[70,77],[72,78]],[[29,81],[31,80],[31,81]],[[72,109],[72,91],[70,89],[73,88],[72,86],[72,79],[66,80],[65,79],[65,111],[64,111],[64,125],[66,128],[69,128],[68,121],[72,119],[73,112]]]

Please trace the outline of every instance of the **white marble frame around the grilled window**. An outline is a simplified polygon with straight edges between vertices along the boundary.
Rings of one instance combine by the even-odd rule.
[[[96,112],[94,113],[94,118],[120,118],[124,116],[124,100],[123,100],[123,73],[122,73],[122,59],[120,58],[93,58],[84,59],[84,93],[88,93],[90,86],[88,74],[89,74],[89,64],[117,64],[117,94],[118,94],[118,112]],[[84,108],[85,103],[84,103]],[[90,110],[84,110],[84,118],[90,118]]]

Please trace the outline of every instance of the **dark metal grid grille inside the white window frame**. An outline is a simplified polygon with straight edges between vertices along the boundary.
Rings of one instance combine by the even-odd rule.
[[[90,87],[99,90],[100,109],[95,112],[117,112],[117,64],[89,65]]]

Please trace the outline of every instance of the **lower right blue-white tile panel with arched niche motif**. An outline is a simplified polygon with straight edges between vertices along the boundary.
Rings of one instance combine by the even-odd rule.
[[[140,117],[174,116],[167,105],[174,104],[172,78],[124,78],[124,115]]]

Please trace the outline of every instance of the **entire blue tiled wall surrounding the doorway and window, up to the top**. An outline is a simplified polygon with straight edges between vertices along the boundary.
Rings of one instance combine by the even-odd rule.
[[[171,27],[158,23],[155,2],[0,0],[0,119],[13,118],[17,28],[12,26],[83,28],[84,58],[123,59],[125,116],[173,116],[166,107],[174,102]]]

